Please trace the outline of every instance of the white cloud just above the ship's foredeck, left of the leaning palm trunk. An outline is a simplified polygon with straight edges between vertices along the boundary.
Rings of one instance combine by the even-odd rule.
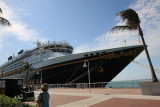
[[[137,32],[120,32],[120,33],[110,33],[107,32],[97,38],[92,42],[81,45],[75,49],[75,53],[109,49],[116,47],[123,47],[126,45],[139,45]]]

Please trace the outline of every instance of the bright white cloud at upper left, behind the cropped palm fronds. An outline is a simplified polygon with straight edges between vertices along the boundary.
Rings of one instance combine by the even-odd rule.
[[[0,1],[0,8],[3,11],[3,14],[1,14],[1,16],[9,20],[12,25],[12,27],[0,28],[0,50],[2,49],[3,40],[6,36],[12,36],[17,40],[24,42],[36,41],[37,39],[42,41],[46,40],[44,37],[41,37],[34,29],[29,28],[26,23],[19,20],[18,14],[19,12],[24,12],[23,9],[18,7],[17,9],[13,9],[3,1]],[[15,9],[16,11],[13,11]]]

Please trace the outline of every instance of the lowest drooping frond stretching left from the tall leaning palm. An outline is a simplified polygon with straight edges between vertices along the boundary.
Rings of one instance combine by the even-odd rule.
[[[118,31],[124,31],[124,30],[134,30],[131,26],[114,26],[111,29],[111,32],[118,32]]]

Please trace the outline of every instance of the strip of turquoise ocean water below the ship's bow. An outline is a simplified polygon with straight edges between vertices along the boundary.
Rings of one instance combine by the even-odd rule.
[[[140,88],[140,82],[151,81],[145,80],[130,80],[130,81],[112,81],[108,83],[105,88]]]

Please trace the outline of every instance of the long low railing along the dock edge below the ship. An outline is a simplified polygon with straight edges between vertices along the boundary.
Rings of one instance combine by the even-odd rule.
[[[142,81],[97,82],[91,83],[91,88],[140,88]],[[33,84],[32,87],[40,89],[41,84]],[[49,84],[50,88],[88,88],[89,83]]]

